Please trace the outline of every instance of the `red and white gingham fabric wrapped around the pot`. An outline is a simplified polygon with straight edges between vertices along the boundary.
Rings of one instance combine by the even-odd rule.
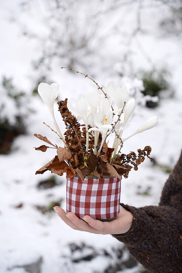
[[[83,219],[90,215],[93,219],[108,221],[119,214],[121,180],[107,177],[104,180],[94,178],[84,179],[71,177],[66,184],[67,212],[74,212]]]

